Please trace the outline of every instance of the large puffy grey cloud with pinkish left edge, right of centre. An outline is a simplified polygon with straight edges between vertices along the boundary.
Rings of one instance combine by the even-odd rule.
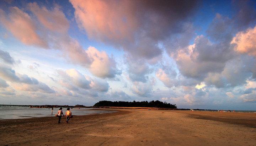
[[[222,72],[226,62],[234,58],[229,45],[212,44],[202,35],[197,36],[194,43],[174,56],[178,70],[185,77],[201,82],[209,73]]]

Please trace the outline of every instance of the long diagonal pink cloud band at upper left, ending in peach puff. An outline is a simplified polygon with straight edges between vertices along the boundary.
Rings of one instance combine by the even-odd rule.
[[[58,49],[68,61],[89,69],[92,74],[103,79],[120,74],[114,59],[110,58],[106,52],[99,52],[94,47],[85,50],[78,41],[69,36],[69,22],[58,5],[47,9],[44,6],[39,7],[34,2],[28,4],[28,10],[30,13],[18,7],[10,7],[9,13],[0,10],[1,22],[22,43],[44,49]]]

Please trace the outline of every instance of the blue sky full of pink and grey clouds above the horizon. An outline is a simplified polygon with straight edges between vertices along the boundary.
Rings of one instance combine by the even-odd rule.
[[[0,104],[256,110],[255,79],[256,1],[0,1]]]

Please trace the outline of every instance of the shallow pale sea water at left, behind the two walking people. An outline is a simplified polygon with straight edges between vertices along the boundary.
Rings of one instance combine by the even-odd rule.
[[[25,119],[33,117],[52,117],[58,114],[59,108],[30,108],[30,107],[1,107],[0,119]],[[63,108],[63,114],[66,113],[66,108]],[[116,112],[114,110],[96,110],[95,108],[73,108],[70,109],[72,115],[90,115]]]

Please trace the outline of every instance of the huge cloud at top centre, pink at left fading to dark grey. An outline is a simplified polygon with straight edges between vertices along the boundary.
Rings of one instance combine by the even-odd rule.
[[[164,0],[70,2],[75,8],[76,22],[89,38],[121,47],[134,58],[146,59],[162,53],[158,41],[181,32],[181,22],[193,14],[197,4]]]

